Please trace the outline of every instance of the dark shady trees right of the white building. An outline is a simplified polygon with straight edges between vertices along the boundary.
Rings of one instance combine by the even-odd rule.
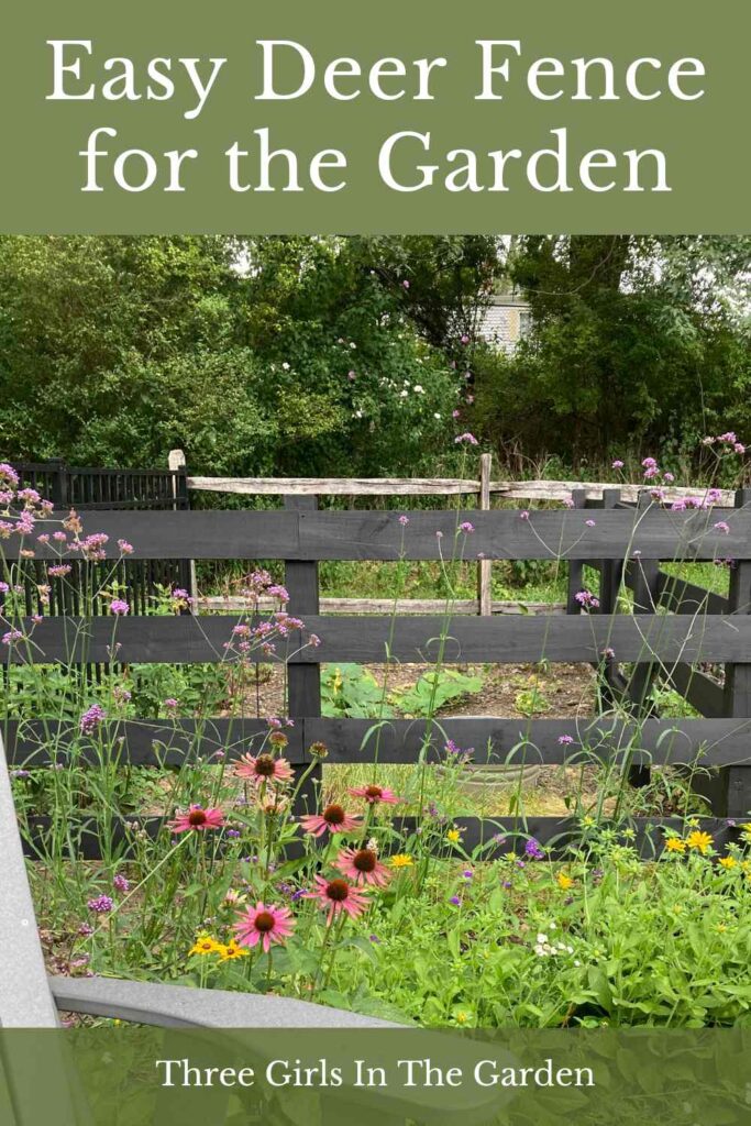
[[[479,349],[477,428],[574,465],[649,446],[680,467],[705,434],[748,429],[749,242],[526,236],[511,277],[534,331],[510,356]]]

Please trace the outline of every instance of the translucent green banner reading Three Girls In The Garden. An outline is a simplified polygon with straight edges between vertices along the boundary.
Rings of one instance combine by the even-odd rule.
[[[0,1033],[0,1120],[55,1126],[719,1126],[749,1029]]]

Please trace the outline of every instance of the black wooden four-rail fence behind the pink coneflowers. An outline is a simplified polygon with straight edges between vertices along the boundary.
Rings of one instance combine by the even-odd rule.
[[[735,510],[646,511],[619,506],[616,497],[604,507],[570,511],[411,512],[404,529],[399,515],[384,511],[318,511],[315,499],[288,498],[278,511],[101,511],[96,530],[109,536],[115,557],[117,540],[127,538],[137,561],[276,558],[286,563],[292,595],[290,613],[301,616],[321,640],[319,647],[303,647],[289,665],[289,714],[294,720],[286,751],[296,770],[310,765],[312,743],[328,747],[329,763],[373,761],[376,741],[365,739],[372,722],[321,716],[319,667],[327,662],[436,661],[444,649],[446,662],[590,662],[608,663],[610,690],[624,707],[583,720],[510,720],[456,717],[440,721],[390,721],[377,741],[378,761],[415,762],[445,757],[446,739],[475,748],[475,761],[509,763],[576,763],[598,758],[624,768],[651,766],[723,768],[714,790],[714,816],[703,822],[717,843],[735,839],[734,820],[751,807],[751,511],[749,494],[739,494]],[[410,560],[450,556],[458,543],[458,520],[468,520],[465,557],[482,553],[490,560],[546,560],[569,562],[569,616],[442,617],[402,615],[325,616],[319,614],[318,563],[322,560],[395,561],[403,551]],[[718,529],[718,522],[727,531]],[[403,543],[403,547],[402,547]],[[6,545],[12,551],[12,540]],[[38,555],[45,557],[41,546]],[[727,600],[673,580],[660,561],[735,561]],[[596,566],[601,574],[600,613],[580,613],[573,598],[581,586],[581,569]],[[615,591],[619,573],[635,595],[635,613],[622,613]],[[128,616],[117,623],[119,659],[127,662],[218,662],[233,619],[227,616]],[[442,641],[441,641],[442,638]],[[113,620],[45,618],[34,632],[36,659],[46,662],[105,661],[113,642]],[[293,640],[292,649],[297,649]],[[23,652],[11,659],[23,660]],[[724,687],[696,672],[697,664],[724,665]],[[701,718],[661,718],[647,707],[645,682],[671,680],[699,705]],[[682,678],[682,679],[681,679]],[[707,681],[707,682],[705,682]],[[698,687],[696,687],[698,686]],[[64,725],[62,725],[64,729]],[[182,720],[173,726],[144,717],[117,725],[113,753],[122,762],[160,765],[179,762],[190,753],[224,748],[230,759],[248,748],[248,739],[262,731],[260,720]],[[200,731],[198,747],[193,735]],[[44,738],[39,739],[39,735]],[[11,762],[41,765],[52,753],[64,760],[66,732],[60,724],[9,724],[7,745]],[[160,745],[161,744],[161,745]],[[512,832],[540,841],[563,842],[580,829],[560,817],[459,819],[464,847],[488,844],[486,856],[508,850]],[[670,817],[634,821],[637,840],[659,850],[655,826],[682,826]],[[650,843],[651,842],[651,843]]]

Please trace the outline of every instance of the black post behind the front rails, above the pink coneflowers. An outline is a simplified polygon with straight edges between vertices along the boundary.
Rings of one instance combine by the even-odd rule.
[[[284,507],[298,512],[314,512],[316,497],[285,497]],[[319,613],[319,565],[314,562],[287,560],[285,562],[285,587],[289,593],[287,609],[305,622],[307,614]],[[297,720],[310,720],[321,715],[321,665],[290,661],[287,665],[287,708]],[[295,774],[307,770],[307,765],[294,767]],[[296,814],[313,813],[318,806],[318,789],[322,779],[319,763],[309,774],[305,784],[297,792]]]

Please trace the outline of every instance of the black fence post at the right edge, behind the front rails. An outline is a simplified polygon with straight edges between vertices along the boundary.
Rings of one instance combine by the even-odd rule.
[[[739,489],[735,508],[751,509],[751,489]],[[751,560],[737,560],[730,573],[730,614],[751,614]],[[751,659],[751,653],[749,654]],[[751,718],[751,660],[725,665],[723,715],[728,720]],[[726,767],[719,772],[718,816],[745,817],[751,811],[751,767]]]

